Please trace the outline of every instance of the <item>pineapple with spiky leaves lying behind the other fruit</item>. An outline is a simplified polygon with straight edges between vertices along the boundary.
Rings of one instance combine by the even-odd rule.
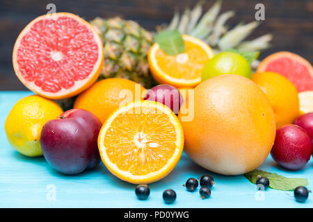
[[[180,16],[174,13],[170,24],[157,26],[157,32],[177,29],[183,34],[192,35],[204,42],[216,52],[227,49],[239,51],[262,51],[267,49],[272,35],[266,34],[255,40],[245,41],[259,25],[258,22],[239,23],[229,29],[226,22],[234,17],[234,11],[220,14],[222,1],[218,0],[202,15],[202,1],[192,10],[187,8]],[[219,15],[220,14],[220,15]],[[147,53],[154,43],[154,33],[146,31],[138,23],[120,17],[109,19],[95,18],[90,22],[104,43],[104,67],[99,80],[103,78],[127,78],[141,83],[149,89],[157,83],[152,78],[147,62]],[[258,61],[252,62],[256,69]],[[72,107],[74,98],[58,101],[65,110]]]

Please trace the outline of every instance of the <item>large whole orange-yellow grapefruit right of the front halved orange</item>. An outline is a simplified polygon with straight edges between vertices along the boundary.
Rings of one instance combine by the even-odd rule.
[[[193,118],[183,121],[185,151],[201,167],[239,175],[259,167],[275,140],[275,117],[266,95],[238,75],[209,78],[195,87]]]

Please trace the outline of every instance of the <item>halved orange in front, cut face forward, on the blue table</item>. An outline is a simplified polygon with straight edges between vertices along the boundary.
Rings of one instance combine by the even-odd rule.
[[[121,180],[148,184],[174,169],[184,148],[176,115],[154,101],[122,106],[104,122],[98,137],[106,167]]]

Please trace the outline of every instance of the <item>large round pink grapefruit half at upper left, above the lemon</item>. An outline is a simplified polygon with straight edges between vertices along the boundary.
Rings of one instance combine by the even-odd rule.
[[[49,99],[63,99],[95,83],[104,62],[102,41],[77,15],[42,15],[19,34],[13,67],[22,83]]]

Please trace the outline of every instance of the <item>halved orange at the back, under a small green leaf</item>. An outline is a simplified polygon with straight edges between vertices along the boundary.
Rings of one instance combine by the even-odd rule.
[[[195,87],[201,82],[204,65],[214,56],[213,50],[202,40],[183,35],[186,51],[168,56],[155,43],[149,53],[150,71],[158,83],[175,87]]]

